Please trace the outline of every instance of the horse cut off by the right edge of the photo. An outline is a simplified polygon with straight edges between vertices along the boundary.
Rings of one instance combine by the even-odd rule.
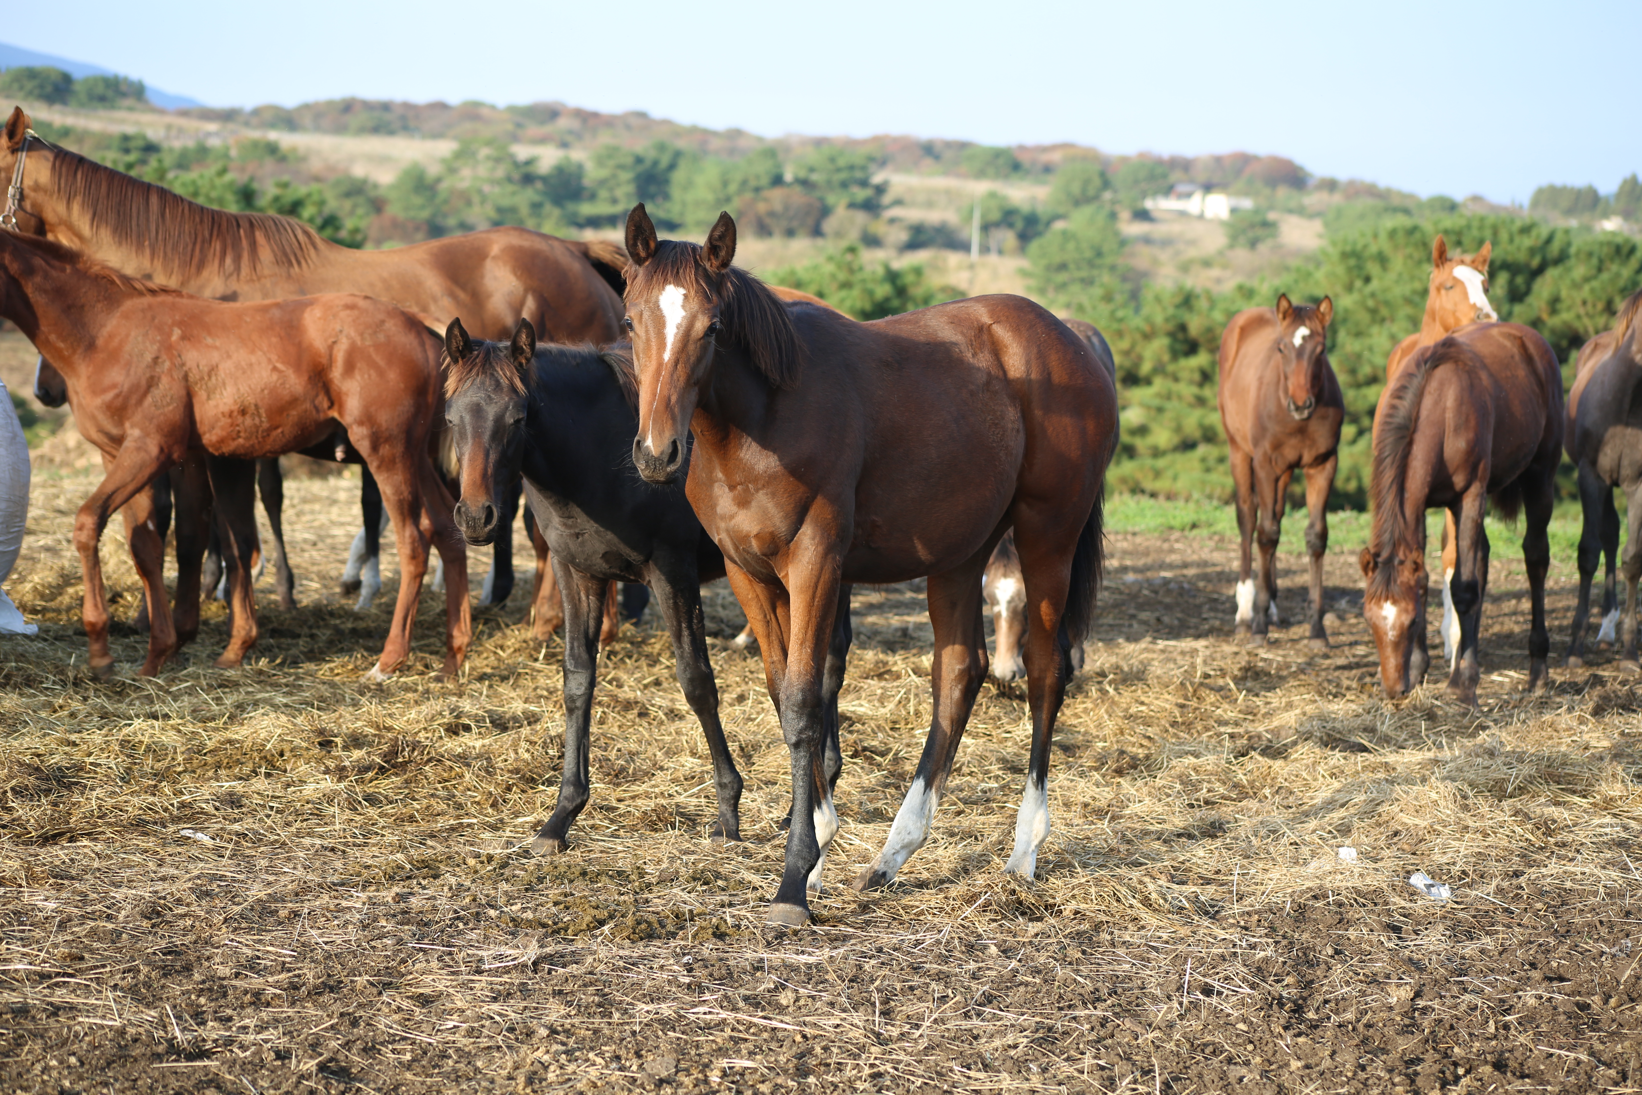
[[[1614,557],[1619,553],[1619,511],[1614,488],[1626,493],[1629,535],[1626,537],[1624,653],[1619,665],[1637,665],[1637,580],[1642,578],[1642,348],[1637,346],[1637,317],[1642,291],[1619,307],[1612,330],[1585,343],[1573,391],[1568,392],[1568,460],[1580,470],[1580,602],[1573,612],[1568,665],[1585,665],[1585,630],[1591,619],[1591,580],[1608,557],[1603,589],[1603,624],[1598,642],[1614,642],[1619,601]]]

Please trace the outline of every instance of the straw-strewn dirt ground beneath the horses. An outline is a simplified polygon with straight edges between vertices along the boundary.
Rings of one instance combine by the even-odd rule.
[[[722,586],[749,839],[704,836],[706,750],[647,621],[601,657],[593,804],[539,860],[560,644],[529,640],[522,596],[478,614],[442,685],[427,594],[409,670],[363,683],[392,581],[363,616],[332,593],[355,486],[297,479],[302,607],[264,580],[256,658],[210,668],[213,606],[186,663],[136,680],[122,629],[122,675],[94,683],[69,548],[90,486],[36,478],[8,583],[43,625],[0,639],[0,1090],[1642,1090],[1642,691],[1603,652],[1520,693],[1502,547],[1468,711],[1440,681],[1379,698],[1358,543],[1332,548],[1335,645],[1314,655],[1297,625],[1232,642],[1230,543],[1118,530],[1041,877],[1002,873],[1026,712],[988,686],[929,844],[865,896],[847,882],[923,742],[929,630],[916,584],[859,591],[842,829],[818,923],[787,932],[762,926],[787,750]],[[128,619],[118,530],[103,558]]]

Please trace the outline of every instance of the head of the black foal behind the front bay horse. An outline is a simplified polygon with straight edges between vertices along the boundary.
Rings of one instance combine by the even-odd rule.
[[[445,330],[445,427],[461,466],[455,515],[468,543],[507,535],[498,529],[496,499],[519,478],[534,360],[529,320],[519,320],[509,341],[468,338],[460,318]]]

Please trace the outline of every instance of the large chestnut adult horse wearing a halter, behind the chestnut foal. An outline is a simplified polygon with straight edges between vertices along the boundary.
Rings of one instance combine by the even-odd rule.
[[[452,315],[465,315],[479,335],[506,338],[522,315],[555,340],[608,341],[619,335],[624,256],[616,245],[491,228],[386,251],[345,248],[297,220],[207,208],[49,146],[33,135],[21,107],[5,123],[0,172],[13,181],[7,215],[18,231],[199,297],[277,300],[361,292],[399,305],[433,332]],[[61,378],[43,355],[38,386],[48,389],[46,399],[54,381]],[[269,524],[279,596],[291,606],[294,580],[277,535],[277,466],[264,466],[261,481],[264,507],[274,502]],[[371,545],[379,527],[374,515],[365,522]],[[504,540],[496,580],[511,584],[512,540]]]

